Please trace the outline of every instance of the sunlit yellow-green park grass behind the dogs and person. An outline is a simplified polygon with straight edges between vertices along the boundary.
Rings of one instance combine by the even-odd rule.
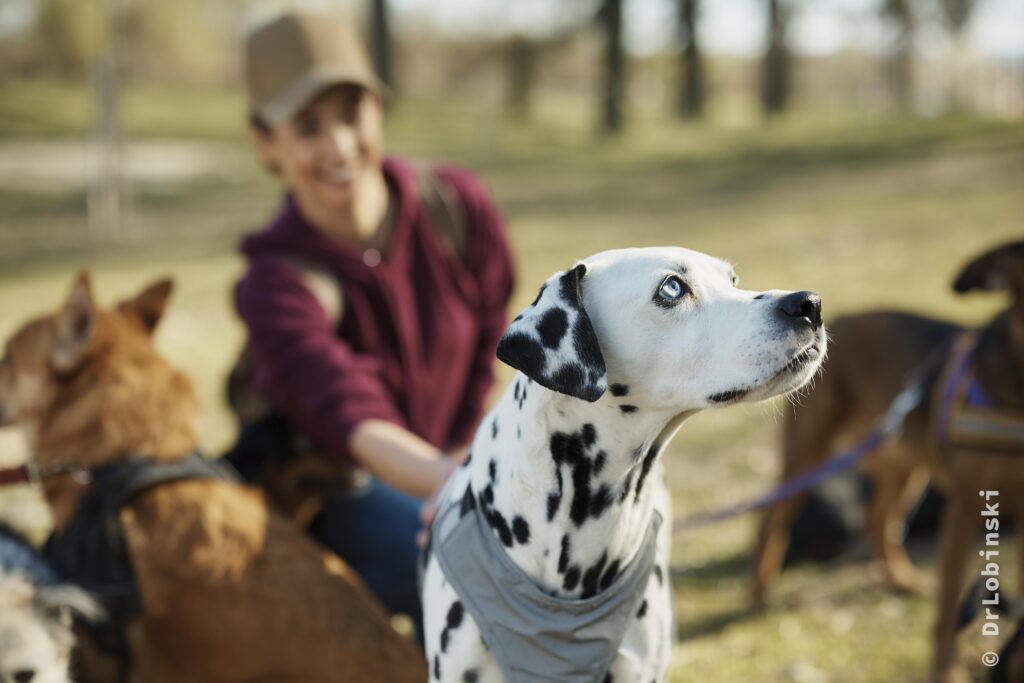
[[[26,144],[74,143],[89,127],[87,102],[73,86],[0,86],[0,170]],[[229,301],[242,268],[232,245],[279,196],[246,146],[242,111],[230,92],[126,95],[133,140],[199,144],[217,165],[199,177],[134,183],[133,229],[116,239],[85,233],[81,183],[0,173],[0,337],[54,307],[80,266],[96,271],[104,301],[174,274],[178,292],[159,342],[196,380],[200,431],[213,452],[231,438],[221,390],[242,342]],[[764,127],[688,126],[641,112],[621,139],[601,140],[589,102],[554,96],[542,99],[538,119],[508,123],[480,101],[402,102],[387,127],[390,150],[469,165],[492,186],[518,259],[513,309],[574,258],[656,244],[728,258],[749,289],[815,290],[828,316],[899,307],[973,323],[1005,303],[955,297],[949,283],[972,254],[1021,237],[1024,124],[797,114]],[[677,512],[768,487],[777,414],[730,409],[688,423],[667,454]],[[0,436],[0,453],[16,450]],[[0,516],[16,509],[23,522],[45,524],[27,494],[5,497]],[[674,682],[926,679],[932,596],[892,595],[865,563],[787,571],[774,592],[778,607],[748,614],[755,523],[745,517],[679,539]],[[931,566],[929,552],[922,562]],[[977,639],[966,641],[976,655]]]

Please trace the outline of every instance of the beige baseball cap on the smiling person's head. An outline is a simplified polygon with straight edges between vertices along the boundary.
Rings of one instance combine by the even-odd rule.
[[[249,105],[270,125],[291,120],[324,88],[341,83],[378,96],[386,90],[355,29],[337,14],[289,12],[246,36]]]

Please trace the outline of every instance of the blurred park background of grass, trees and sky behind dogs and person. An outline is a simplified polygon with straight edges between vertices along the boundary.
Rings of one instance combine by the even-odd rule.
[[[513,310],[575,258],[657,244],[728,258],[749,289],[815,290],[829,317],[978,324],[1005,304],[949,282],[1024,232],[1017,0],[0,0],[0,337],[79,267],[105,302],[174,275],[159,343],[197,383],[211,453],[233,436],[234,244],[281,195],[248,142],[241,37],[286,6],[365,28],[389,151],[492,187]],[[667,454],[678,511],[771,484],[778,410],[687,424]],[[0,464],[25,451],[0,430]],[[27,489],[0,494],[0,519],[47,523]],[[891,594],[862,555],[787,572],[750,615],[756,522],[679,540],[673,681],[926,679],[933,594]]]

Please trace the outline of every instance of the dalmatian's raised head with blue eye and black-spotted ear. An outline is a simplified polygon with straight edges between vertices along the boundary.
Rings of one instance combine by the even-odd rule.
[[[737,282],[729,263],[688,249],[602,252],[544,284],[498,357],[553,391],[596,401],[610,387],[638,410],[799,388],[825,354],[820,299]]]

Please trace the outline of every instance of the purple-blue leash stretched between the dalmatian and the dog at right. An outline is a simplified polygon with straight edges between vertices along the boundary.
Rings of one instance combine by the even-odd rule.
[[[903,390],[896,395],[889,410],[879,421],[879,425],[863,439],[840,455],[829,458],[815,469],[787,479],[766,495],[754,500],[728,505],[712,512],[677,517],[672,523],[672,532],[708,526],[748,512],[767,508],[779,501],[802,494],[813,488],[825,479],[853,467],[860,459],[874,451],[890,438],[897,436],[903,427],[906,416],[921,404],[925,394],[925,383],[921,378],[914,378],[904,385]]]

